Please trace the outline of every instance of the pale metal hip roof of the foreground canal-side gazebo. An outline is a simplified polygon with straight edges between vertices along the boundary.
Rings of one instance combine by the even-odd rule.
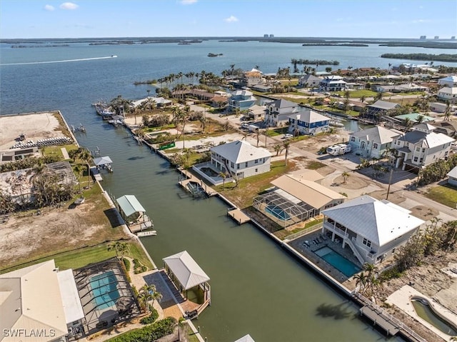
[[[206,275],[187,251],[167,256],[163,260],[185,290],[209,281],[209,276]]]

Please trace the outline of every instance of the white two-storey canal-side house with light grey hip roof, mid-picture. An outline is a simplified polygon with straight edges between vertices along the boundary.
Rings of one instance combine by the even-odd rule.
[[[233,141],[211,147],[211,166],[238,179],[270,171],[271,153],[247,141]]]

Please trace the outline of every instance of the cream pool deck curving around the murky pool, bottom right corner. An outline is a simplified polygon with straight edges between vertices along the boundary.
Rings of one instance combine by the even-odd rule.
[[[428,323],[426,320],[418,316],[410,300],[410,298],[413,296],[426,298],[428,303],[431,303],[435,311],[440,313],[441,316],[448,319],[448,321],[457,322],[457,315],[455,313],[452,313],[448,310],[448,308],[441,306],[433,298],[428,298],[427,296],[423,295],[419,291],[416,291],[416,289],[412,288],[409,285],[403,286],[398,291],[392,293],[391,296],[388,296],[386,299],[386,303],[397,306],[401,309],[401,311],[404,311],[413,319],[420,322],[423,326],[426,326],[428,329],[436,333],[436,335],[440,336],[446,341],[451,341],[451,336],[447,335],[446,333],[443,333],[438,328],[435,328],[435,326],[433,326],[431,323]]]

